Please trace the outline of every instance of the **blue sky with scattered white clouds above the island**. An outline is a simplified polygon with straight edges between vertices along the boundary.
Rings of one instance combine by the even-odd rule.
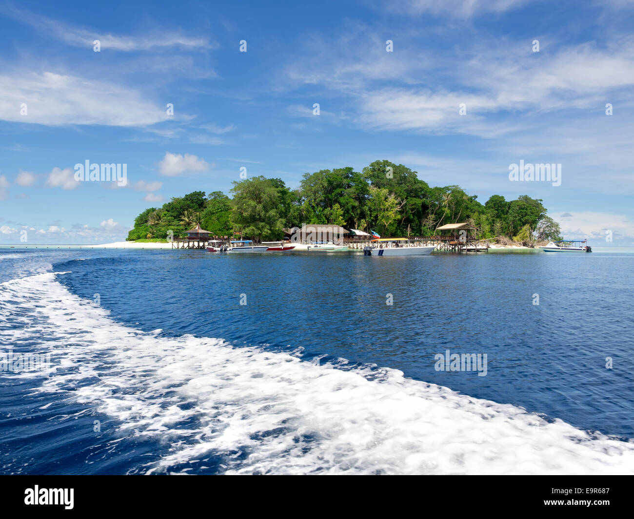
[[[387,159],[632,245],[633,23],[628,0],[0,0],[0,243],[123,240],[241,167],[296,187]],[[75,182],[86,160],[128,185]],[[510,181],[520,160],[560,163],[561,185]]]

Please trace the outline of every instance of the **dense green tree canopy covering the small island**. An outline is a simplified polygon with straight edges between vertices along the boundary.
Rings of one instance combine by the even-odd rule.
[[[169,231],[184,236],[197,224],[214,236],[256,241],[279,240],[284,227],[302,224],[337,224],[383,236],[434,236],[437,227],[456,222],[470,222],[481,238],[523,239],[534,229],[540,239],[559,234],[541,200],[493,195],[482,205],[459,186],[430,187],[417,172],[387,160],[361,172],[343,167],[306,173],[295,191],[281,179],[252,177],[234,182],[230,195],[194,191],[150,207],[136,217],[128,240],[165,238]]]

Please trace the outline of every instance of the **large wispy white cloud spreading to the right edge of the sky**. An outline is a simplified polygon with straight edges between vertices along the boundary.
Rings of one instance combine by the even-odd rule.
[[[634,86],[634,39],[627,36],[602,45],[555,45],[542,38],[541,52],[532,53],[531,41],[474,34],[468,49],[421,54],[412,47],[386,53],[385,40],[368,35],[373,27],[346,29],[333,41],[302,42],[301,52],[283,65],[276,89],[321,88],[326,94],[316,102],[345,96],[351,112],[339,117],[363,129],[496,138],[517,132],[517,119],[526,114],[566,110],[570,120],[598,115],[608,101],[624,110]],[[307,62],[308,53],[317,59]],[[459,113],[461,103],[466,115]],[[310,106],[291,105],[287,112],[313,117]]]

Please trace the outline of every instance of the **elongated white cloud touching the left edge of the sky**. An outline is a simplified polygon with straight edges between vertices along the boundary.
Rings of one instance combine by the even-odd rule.
[[[20,115],[20,105],[27,115]],[[0,75],[0,119],[59,126],[138,127],[166,120],[162,106],[120,84],[44,72]]]

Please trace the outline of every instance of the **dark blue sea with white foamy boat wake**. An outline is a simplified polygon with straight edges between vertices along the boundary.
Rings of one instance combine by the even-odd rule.
[[[1,248],[0,472],[634,473],[631,279],[628,252]]]

